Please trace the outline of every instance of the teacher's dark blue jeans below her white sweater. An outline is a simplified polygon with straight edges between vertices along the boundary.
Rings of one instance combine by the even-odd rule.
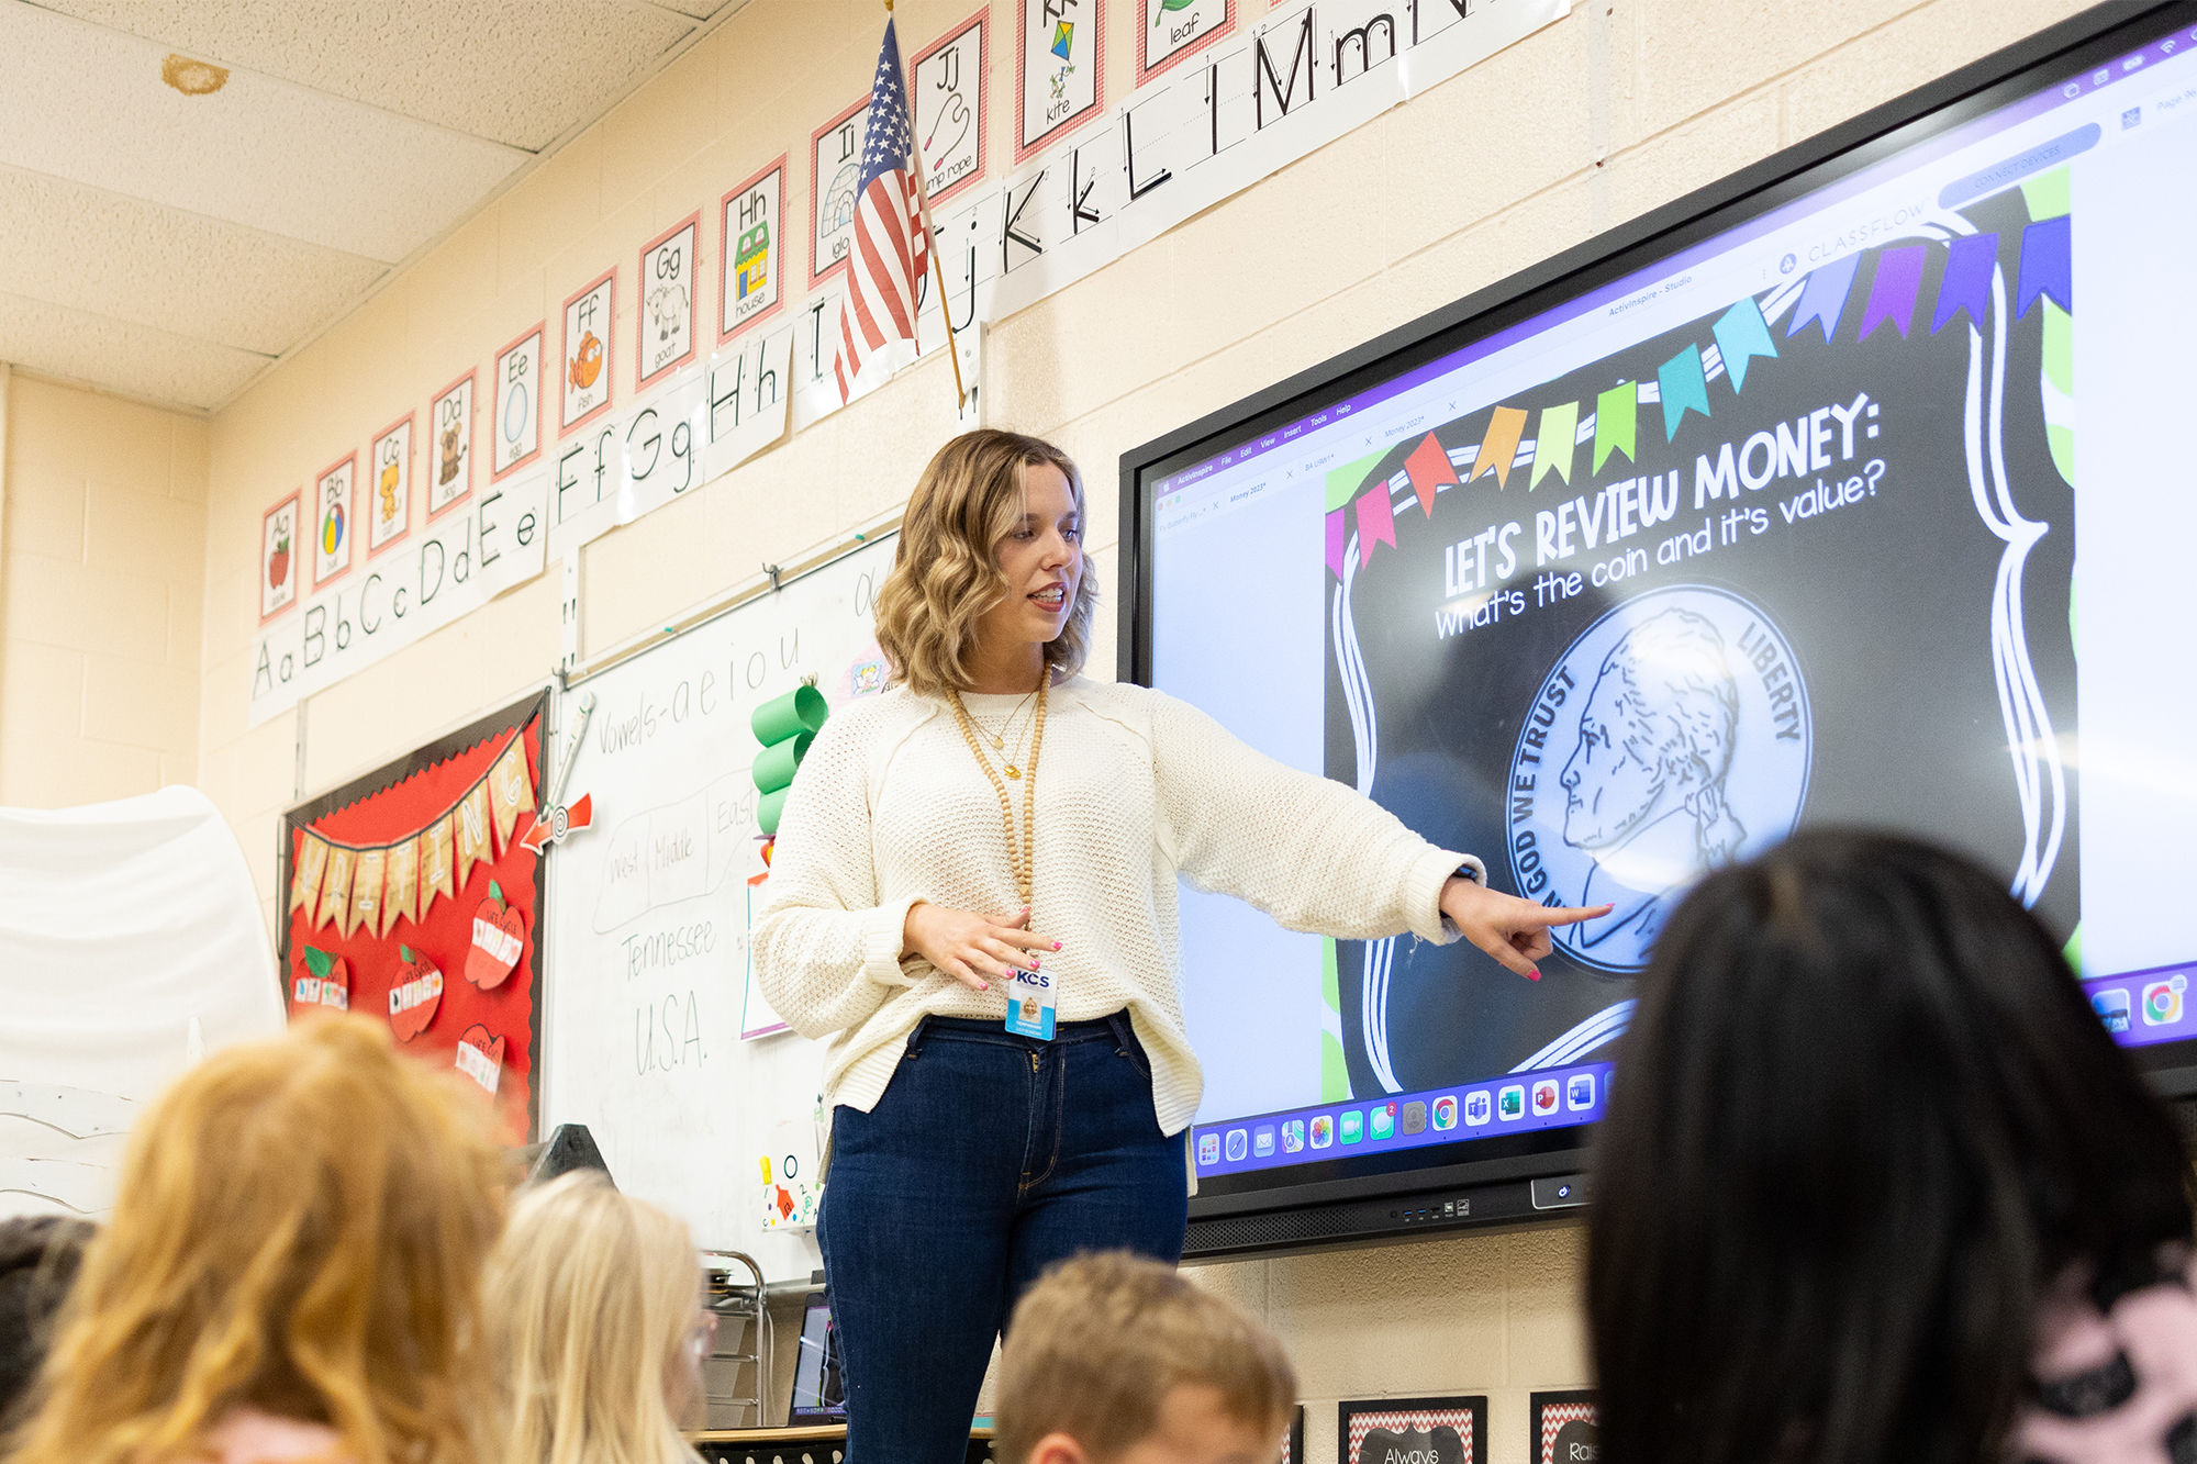
[[[962,1464],[991,1343],[1079,1251],[1182,1260],[1182,1136],[1151,1112],[1127,1013],[925,1018],[870,1112],[833,1110],[817,1244],[839,1332],[848,1464]]]

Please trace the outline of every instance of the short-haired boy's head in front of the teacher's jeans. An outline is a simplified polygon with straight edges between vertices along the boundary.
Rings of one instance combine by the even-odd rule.
[[[1274,1334],[1120,1251],[1046,1273],[1000,1358],[1006,1464],[1272,1464],[1296,1398]]]

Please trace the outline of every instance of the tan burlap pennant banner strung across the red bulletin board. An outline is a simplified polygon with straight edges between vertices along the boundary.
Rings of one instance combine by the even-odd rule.
[[[455,899],[472,866],[501,857],[512,835],[523,833],[518,818],[534,813],[523,732],[512,732],[488,772],[448,809],[393,844],[343,844],[301,829],[290,910],[305,910],[314,930],[336,921],[345,936],[365,925],[378,939],[400,914],[424,921],[437,895]]]

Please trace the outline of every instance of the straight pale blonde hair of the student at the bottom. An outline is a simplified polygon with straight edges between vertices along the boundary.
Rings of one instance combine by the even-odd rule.
[[[694,1464],[666,1402],[701,1310],[683,1222],[567,1174],[512,1209],[488,1308],[503,1464]]]

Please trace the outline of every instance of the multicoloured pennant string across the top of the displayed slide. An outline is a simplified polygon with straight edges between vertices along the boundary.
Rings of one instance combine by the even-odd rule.
[[[2032,200],[2032,209],[2037,200]],[[1944,270],[1938,275],[1938,299],[1929,314],[1929,334],[1938,334],[1962,314],[1971,325],[1982,325],[1990,312],[1990,281],[1999,268],[1999,235],[1975,233],[1947,244],[1900,244],[1874,251],[1876,266],[1870,273],[1870,292],[1861,306],[1861,323],[1854,341],[1867,341],[1889,325],[1905,341],[1920,325],[1922,279],[1929,273],[1933,253],[1944,255]],[[1815,268],[1799,288],[1799,301],[1784,325],[1784,339],[1797,336],[1815,325],[1828,345],[1839,334],[1848,301],[1854,292],[1854,277],[1861,273],[1865,253],[1848,255]],[[2012,317],[2019,321],[2030,308],[2045,299],[2065,312],[2074,312],[2074,268],[2072,231],[2067,213],[2043,218],[2021,231],[2021,266],[2015,286]],[[1711,415],[1709,382],[1718,376],[1731,378],[1731,391],[1747,389],[1751,361],[1775,361],[1777,341],[1771,336],[1762,303],[1749,295],[1709,328],[1707,343],[1694,343],[1657,367],[1654,382],[1619,382],[1593,400],[1593,413],[1580,418],[1584,402],[1558,402],[1540,409],[1534,435],[1527,437],[1531,413],[1520,407],[1496,407],[1490,411],[1487,429],[1476,448],[1459,448],[1454,462],[1470,457],[1472,468],[1457,473],[1452,455],[1435,433],[1428,433],[1404,459],[1404,477],[1419,497],[1426,517],[1435,514],[1435,495],[1441,488],[1474,484],[1492,475],[1496,490],[1509,484],[1509,470],[1518,457],[1527,455],[1527,492],[1540,488],[1544,477],[1560,477],[1571,486],[1577,448],[1593,442],[1591,470],[1613,455],[1626,462],[1639,459],[1639,409],[1659,404],[1663,409],[1663,442],[1679,435],[1685,413]],[[1650,418],[1652,420],[1652,418]],[[1371,477],[1389,457],[1389,451],[1360,457],[1353,464],[1327,475],[1327,569],[1342,578],[1349,556],[1351,530],[1358,534],[1358,563],[1373,563],[1373,545],[1395,547],[1393,473]]]

